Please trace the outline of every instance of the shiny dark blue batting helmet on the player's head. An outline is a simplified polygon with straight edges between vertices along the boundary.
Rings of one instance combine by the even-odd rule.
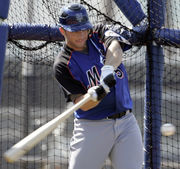
[[[61,27],[69,32],[92,28],[86,9],[77,3],[62,8],[59,23]]]

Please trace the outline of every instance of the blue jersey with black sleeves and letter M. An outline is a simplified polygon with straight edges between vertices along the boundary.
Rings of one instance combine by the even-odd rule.
[[[65,95],[71,96],[87,93],[87,90],[100,84],[101,68],[104,65],[106,48],[114,37],[106,37],[106,27],[97,26],[87,40],[88,52],[74,51],[64,45],[54,63],[57,81],[61,84]],[[121,46],[124,45],[121,43]],[[128,87],[127,72],[123,64],[115,70],[116,85],[110,93],[94,108],[75,112],[76,118],[99,120],[110,115],[132,109],[132,100]]]

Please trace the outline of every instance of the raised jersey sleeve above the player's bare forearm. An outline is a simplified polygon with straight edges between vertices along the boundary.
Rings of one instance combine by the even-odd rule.
[[[93,33],[98,34],[98,38],[102,41],[106,48],[109,47],[113,40],[118,40],[123,51],[126,51],[132,47],[130,42],[121,35],[120,26],[112,25],[96,25],[93,28]]]

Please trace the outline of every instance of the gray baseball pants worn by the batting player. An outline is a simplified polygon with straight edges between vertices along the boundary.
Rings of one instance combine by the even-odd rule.
[[[142,136],[133,113],[120,119],[74,120],[69,169],[142,169]]]

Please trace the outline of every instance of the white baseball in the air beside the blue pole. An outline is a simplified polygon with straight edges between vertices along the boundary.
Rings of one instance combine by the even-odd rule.
[[[176,127],[171,123],[165,123],[161,126],[163,136],[172,136],[176,132]]]

